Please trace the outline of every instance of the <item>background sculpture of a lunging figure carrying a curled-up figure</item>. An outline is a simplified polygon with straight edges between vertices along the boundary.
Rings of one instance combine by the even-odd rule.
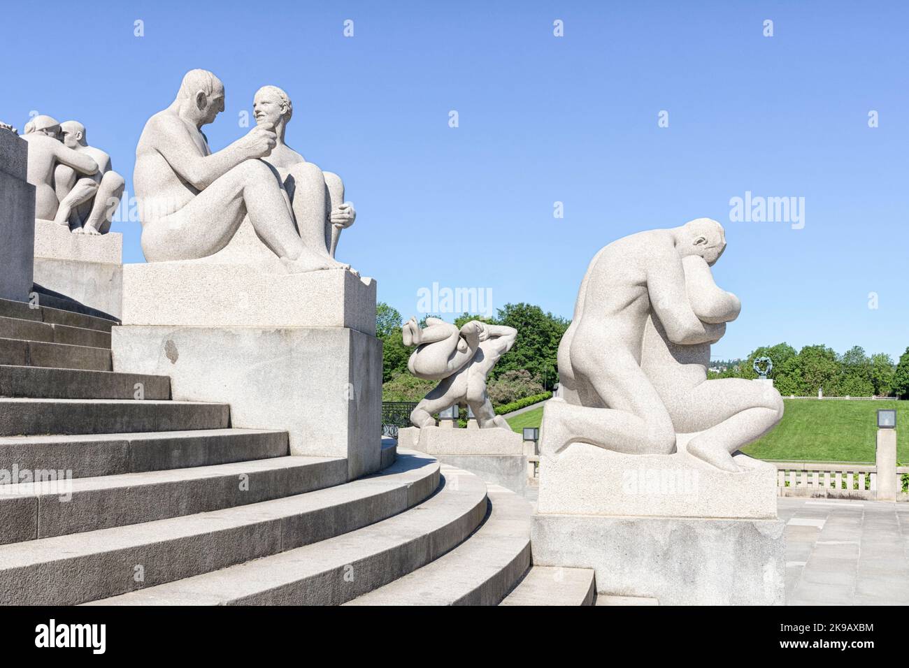
[[[517,330],[479,320],[471,320],[460,329],[438,318],[426,318],[426,325],[421,329],[411,318],[402,329],[404,344],[417,346],[407,366],[418,378],[442,382],[417,404],[410,421],[421,428],[434,426],[434,413],[464,403],[473,410],[481,429],[501,427],[511,431],[489,401],[486,376],[511,350]]]

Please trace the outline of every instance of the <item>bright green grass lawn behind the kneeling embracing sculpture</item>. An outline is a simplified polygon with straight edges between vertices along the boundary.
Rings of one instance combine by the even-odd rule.
[[[896,409],[897,459],[909,463],[909,402],[784,399],[783,420],[774,431],[744,448],[760,459],[815,462],[874,462],[876,411]],[[543,408],[527,411],[508,424],[515,432],[538,427]]]

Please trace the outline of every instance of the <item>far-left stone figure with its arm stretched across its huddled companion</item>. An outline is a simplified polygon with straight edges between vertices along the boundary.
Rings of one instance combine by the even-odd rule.
[[[82,151],[76,151],[60,141],[60,124],[50,116],[36,115],[25,125],[28,142],[28,183],[35,186],[35,217],[55,220],[60,208],[56,173],[66,167],[80,176],[93,176],[98,172],[95,159]],[[68,191],[67,191],[68,192]]]

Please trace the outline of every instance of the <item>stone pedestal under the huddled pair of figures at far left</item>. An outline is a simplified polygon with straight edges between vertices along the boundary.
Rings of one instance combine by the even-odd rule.
[[[123,234],[73,234],[53,221],[36,220],[35,283],[119,319]]]

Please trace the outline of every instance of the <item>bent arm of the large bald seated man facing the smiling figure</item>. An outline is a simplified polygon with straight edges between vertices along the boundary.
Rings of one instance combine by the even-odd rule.
[[[147,128],[154,137],[155,149],[167,164],[196,190],[205,190],[215,179],[227,174],[250,157],[245,145],[234,144],[212,155],[202,155],[189,131],[178,118],[155,118]]]

